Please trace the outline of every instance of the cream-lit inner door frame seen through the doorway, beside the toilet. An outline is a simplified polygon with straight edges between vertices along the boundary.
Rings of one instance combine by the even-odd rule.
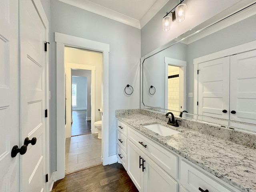
[[[95,133],[95,66],[92,65],[83,65],[83,64],[76,64],[76,63],[66,63],[66,91],[70,93],[67,98],[71,98],[71,69],[78,69],[78,70],[90,70],[91,71],[91,131],[92,134]],[[69,79],[69,80],[68,80]],[[67,99],[66,103],[66,138],[71,137],[71,114],[72,114],[72,103],[71,99]]]

